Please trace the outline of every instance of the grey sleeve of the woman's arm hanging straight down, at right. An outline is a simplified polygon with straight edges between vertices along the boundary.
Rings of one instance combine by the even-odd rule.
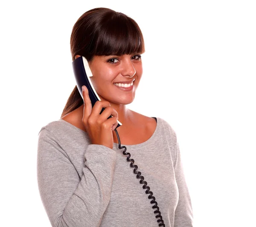
[[[189,190],[183,172],[182,161],[180,158],[180,148],[176,137],[175,149],[175,178],[179,190],[179,200],[175,210],[174,227],[192,227],[193,213]]]

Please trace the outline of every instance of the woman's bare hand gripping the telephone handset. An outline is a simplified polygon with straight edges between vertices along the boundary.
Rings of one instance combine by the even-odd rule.
[[[92,144],[104,145],[113,149],[113,130],[117,127],[118,113],[110,106],[108,101],[96,101],[92,107],[88,89],[82,91],[84,98],[84,115],[82,122],[90,137]],[[104,107],[104,111],[102,111]],[[112,118],[108,117],[112,115]]]

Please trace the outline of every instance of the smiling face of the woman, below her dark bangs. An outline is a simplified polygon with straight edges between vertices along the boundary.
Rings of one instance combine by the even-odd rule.
[[[140,54],[94,56],[88,62],[93,77],[91,81],[101,100],[110,103],[129,104],[135,98],[135,91],[143,73]],[[80,55],[76,55],[76,58]],[[129,90],[124,90],[114,83],[131,83]],[[121,84],[122,85],[122,84]]]

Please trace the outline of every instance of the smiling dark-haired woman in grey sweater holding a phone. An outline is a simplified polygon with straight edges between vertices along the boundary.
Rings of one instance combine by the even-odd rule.
[[[92,108],[87,89],[83,101],[75,86],[61,119],[39,132],[38,187],[52,226],[191,227],[192,205],[175,131],[162,118],[125,106],[134,100],[143,73],[139,26],[111,9],[91,9],[75,23],[70,45],[72,60],[88,60],[101,101]],[[116,129],[117,119],[122,125]],[[114,129],[157,203],[145,194]]]

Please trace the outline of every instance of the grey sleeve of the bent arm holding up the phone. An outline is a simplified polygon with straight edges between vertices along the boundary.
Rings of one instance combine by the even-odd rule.
[[[81,179],[58,138],[47,129],[38,137],[37,177],[52,227],[99,227],[109,204],[116,152],[98,144],[84,147]]]

